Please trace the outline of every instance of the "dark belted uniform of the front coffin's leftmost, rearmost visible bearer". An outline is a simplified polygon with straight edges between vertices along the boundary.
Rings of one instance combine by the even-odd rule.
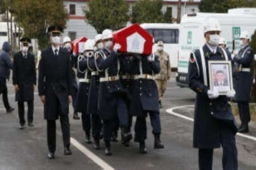
[[[82,125],[83,130],[85,131],[85,139],[88,144],[90,144],[90,115],[87,114],[87,103],[88,95],[90,88],[90,77],[91,72],[88,70],[87,57],[84,56],[84,59],[78,61],[78,95],[76,99],[76,112],[82,113]]]

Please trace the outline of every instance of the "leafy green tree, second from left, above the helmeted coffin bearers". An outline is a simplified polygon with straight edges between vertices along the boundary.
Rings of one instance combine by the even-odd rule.
[[[83,8],[87,22],[94,26],[98,33],[109,28],[123,28],[129,20],[129,6],[126,0],[92,0],[88,8]]]

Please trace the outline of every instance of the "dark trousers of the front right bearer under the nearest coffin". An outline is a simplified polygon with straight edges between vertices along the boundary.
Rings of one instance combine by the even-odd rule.
[[[150,116],[152,133],[154,135],[161,134],[161,122],[160,122],[159,112],[157,111],[146,111],[146,112],[148,112]],[[143,142],[145,139],[147,139],[146,117],[137,116],[136,123],[135,123],[135,142]]]

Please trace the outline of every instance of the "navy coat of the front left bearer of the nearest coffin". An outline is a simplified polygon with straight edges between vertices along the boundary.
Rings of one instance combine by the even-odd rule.
[[[97,67],[101,71],[100,78],[106,77],[106,71],[109,77],[118,76],[118,56],[112,51],[102,50],[106,59],[98,57]],[[126,98],[127,89],[121,85],[120,79],[116,81],[104,81],[99,84],[98,110],[103,120],[111,119],[117,116],[117,98]]]

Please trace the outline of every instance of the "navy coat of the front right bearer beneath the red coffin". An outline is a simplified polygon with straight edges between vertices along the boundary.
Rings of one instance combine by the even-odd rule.
[[[149,62],[147,57],[138,59],[134,57],[131,72],[134,75],[140,75],[140,61],[142,63],[142,73],[154,76],[159,73],[160,66],[158,56],[154,61]],[[147,116],[145,111],[159,112],[159,96],[154,79],[137,79],[132,85],[132,99],[130,114],[133,116]]]

